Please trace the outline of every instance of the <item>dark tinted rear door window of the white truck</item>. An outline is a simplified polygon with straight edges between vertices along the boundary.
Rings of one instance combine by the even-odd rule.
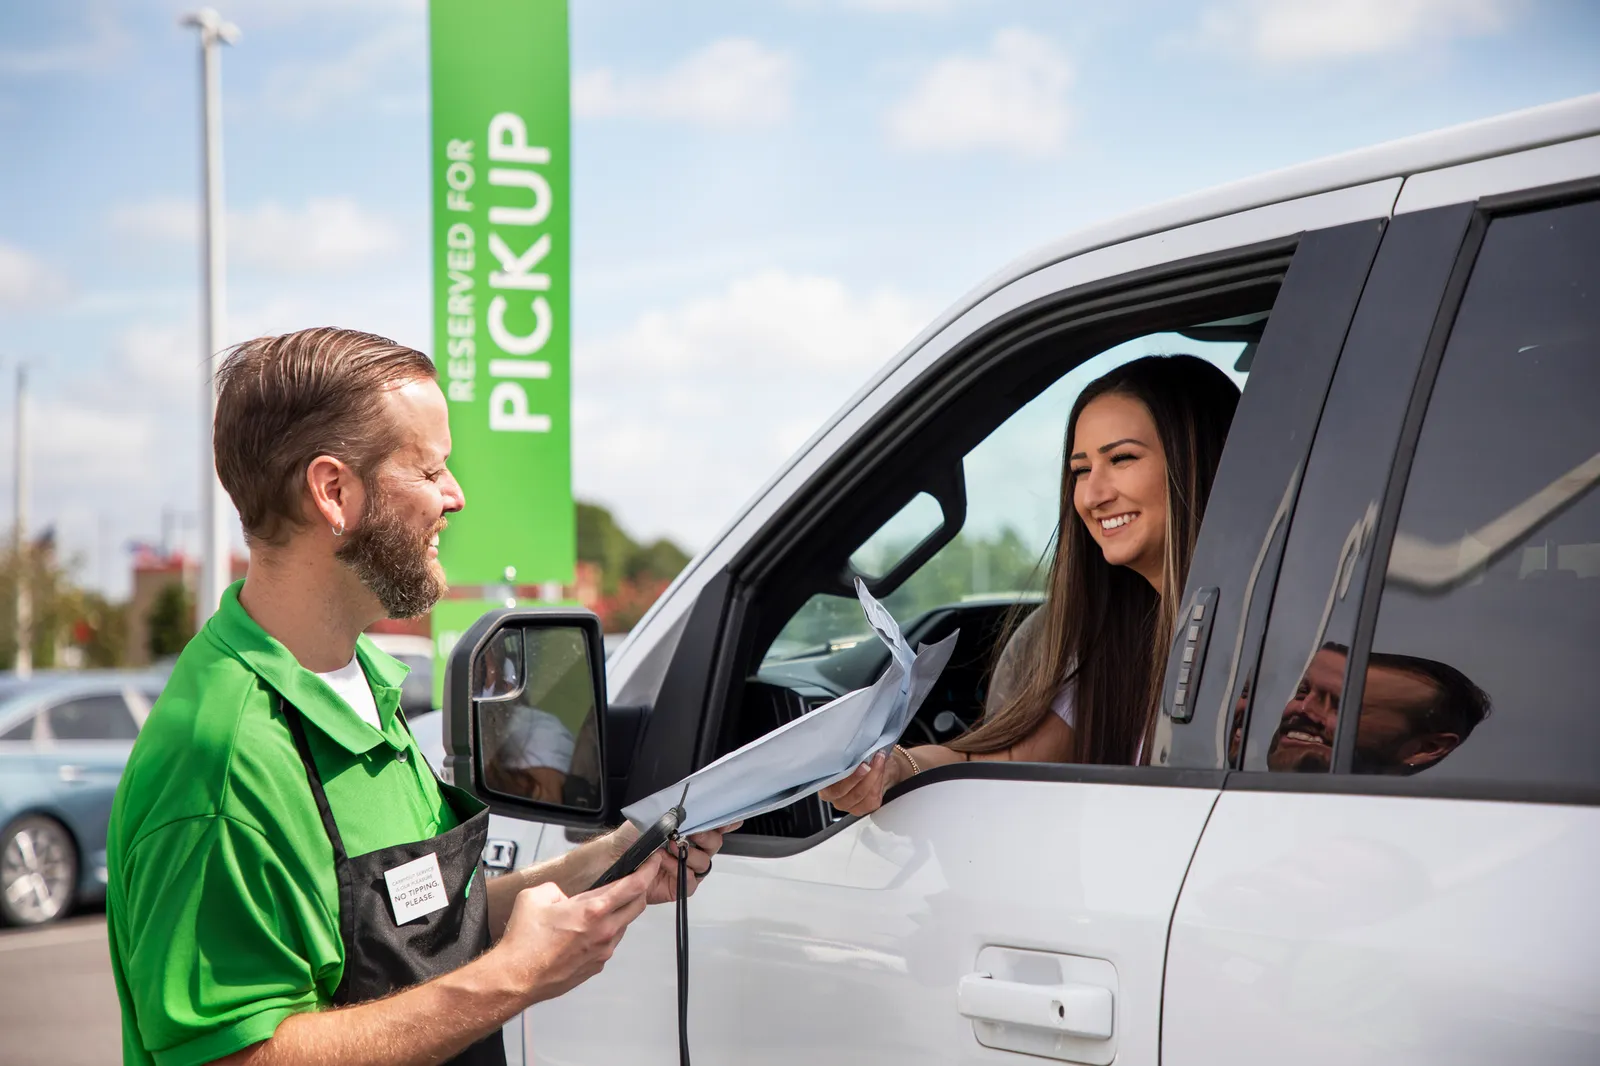
[[[1600,202],[1498,218],[1406,482],[1352,771],[1600,783],[1597,483]],[[1317,671],[1301,730],[1330,696]]]

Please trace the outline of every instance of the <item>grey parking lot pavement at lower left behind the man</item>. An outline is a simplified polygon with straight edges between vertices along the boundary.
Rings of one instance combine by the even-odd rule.
[[[122,1061],[106,916],[0,930],[0,1066]]]

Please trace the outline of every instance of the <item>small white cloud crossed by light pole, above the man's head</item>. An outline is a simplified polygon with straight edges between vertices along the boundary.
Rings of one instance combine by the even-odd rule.
[[[110,226],[134,240],[192,243],[200,213],[189,200],[146,200],[114,208]],[[402,245],[390,219],[349,197],[312,197],[301,208],[269,202],[227,216],[229,259],[274,272],[347,271]]]

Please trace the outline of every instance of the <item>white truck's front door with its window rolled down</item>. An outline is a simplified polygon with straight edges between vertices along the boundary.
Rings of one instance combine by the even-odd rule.
[[[1248,378],[1200,533],[1203,583],[1184,605],[1211,647],[1232,647],[1246,589],[1270,587],[1275,557],[1269,568],[1258,547],[1397,189],[1334,194],[1347,197],[1342,218],[1315,232],[1296,218],[1326,221],[1320,197],[1302,216],[1278,205],[1224,219],[1210,254],[1181,261],[1171,248],[1192,245],[1160,234],[1142,245],[1166,250],[1149,269],[1107,277],[1093,259],[1067,261],[1027,279],[1026,304],[973,312],[963,344],[901,386],[707,586],[720,600],[702,594],[677,648],[707,656],[698,720],[646,731],[635,775],[666,779],[630,792],[882,669],[840,587],[846,565],[901,575],[885,595],[914,643],[962,632],[907,743],[973,723],[1003,619],[1027,605],[1053,536],[1066,413],[1083,384],[1136,355],[1195,352]],[[1131,256],[1104,251],[1104,262]],[[1206,691],[1200,666],[1171,679],[1182,669]],[[696,1061],[1154,1064],[1168,925],[1226,773],[1224,730],[1219,706],[1187,701],[1163,719],[1154,765],[974,762],[914,778],[867,818],[811,797],[754,820],[690,903]],[[683,767],[661,765],[672,744]],[[565,834],[544,834],[546,855],[562,847]],[[672,916],[658,911],[603,975],[526,1015],[530,1061],[675,1061]],[[1069,1018],[1062,988],[1088,1013]]]

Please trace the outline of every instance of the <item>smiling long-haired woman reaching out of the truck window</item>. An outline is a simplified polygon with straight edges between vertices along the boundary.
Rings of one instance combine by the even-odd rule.
[[[1178,602],[1238,387],[1195,355],[1091,381],[1067,418],[1056,549],[1038,610],[1013,610],[982,720],[896,749],[821,797],[867,813],[930,767],[973,759],[1142,763]]]

